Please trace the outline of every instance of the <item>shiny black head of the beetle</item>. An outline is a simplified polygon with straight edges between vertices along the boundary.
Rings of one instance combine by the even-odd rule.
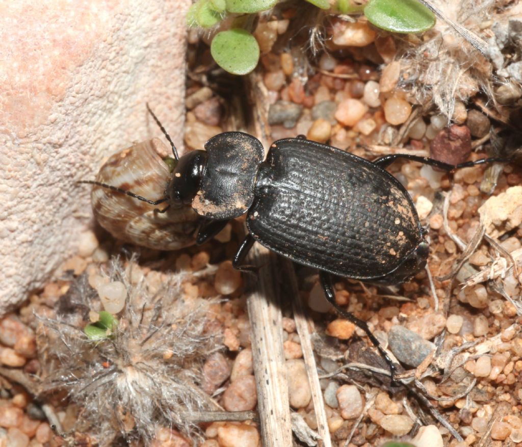
[[[168,202],[173,208],[192,203],[206,166],[207,152],[204,150],[193,150],[180,158],[167,187]]]

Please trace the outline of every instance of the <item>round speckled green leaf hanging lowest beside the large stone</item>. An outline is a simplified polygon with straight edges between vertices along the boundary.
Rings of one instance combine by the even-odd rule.
[[[250,32],[233,28],[216,34],[210,44],[210,54],[227,72],[246,75],[257,65],[259,45]]]

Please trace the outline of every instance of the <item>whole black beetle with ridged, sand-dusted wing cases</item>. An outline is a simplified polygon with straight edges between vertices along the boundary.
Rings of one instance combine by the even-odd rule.
[[[396,154],[371,162],[304,137],[276,141],[264,160],[259,140],[242,132],[216,135],[205,149],[179,158],[165,197],[159,201],[117,191],[152,204],[167,202],[168,207],[192,204],[205,218],[197,233],[198,244],[215,236],[230,219],[246,213],[248,234],[234,256],[234,267],[249,269],[243,261],[257,241],[292,261],[319,269],[328,301],[364,330],[387,361],[392,376],[392,360],[366,322],[336,304],[332,286],[333,275],[398,284],[426,265],[426,230],[405,187],[385,168],[399,158],[445,171],[506,161],[488,158],[454,166]]]

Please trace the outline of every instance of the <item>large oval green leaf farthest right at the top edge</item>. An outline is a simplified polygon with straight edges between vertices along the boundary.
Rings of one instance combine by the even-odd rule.
[[[364,15],[386,31],[415,33],[435,25],[435,15],[417,0],[370,0]]]

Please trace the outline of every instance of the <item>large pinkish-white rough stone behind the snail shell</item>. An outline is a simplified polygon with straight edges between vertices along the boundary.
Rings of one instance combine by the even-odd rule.
[[[102,160],[132,142],[174,142],[184,120],[189,0],[0,8],[0,314],[27,299],[91,224],[90,188]],[[66,31],[65,31],[66,30]]]

